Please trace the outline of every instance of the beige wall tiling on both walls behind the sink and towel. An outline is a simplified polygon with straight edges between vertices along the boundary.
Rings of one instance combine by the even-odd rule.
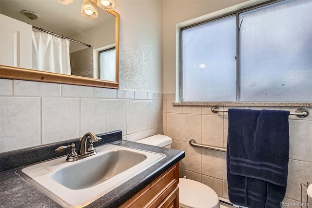
[[[122,138],[130,141],[164,133],[173,139],[172,148],[186,152],[180,161],[180,176],[204,183],[228,198],[226,154],[189,145],[195,139],[200,144],[226,147],[227,112],[215,114],[211,106],[173,106],[175,94],[21,80],[0,79],[0,95],[0,152],[78,138],[88,131],[98,134],[121,129]],[[306,109],[312,112],[312,107]],[[289,130],[284,201],[299,202],[300,183],[312,182],[312,114],[303,119],[290,115]]]

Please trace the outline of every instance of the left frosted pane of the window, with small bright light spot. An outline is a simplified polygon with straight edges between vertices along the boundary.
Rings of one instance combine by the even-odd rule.
[[[235,16],[182,30],[182,101],[236,101]]]

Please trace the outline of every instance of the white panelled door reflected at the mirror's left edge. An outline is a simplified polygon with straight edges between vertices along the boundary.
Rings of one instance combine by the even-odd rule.
[[[0,64],[32,69],[32,26],[0,14]]]

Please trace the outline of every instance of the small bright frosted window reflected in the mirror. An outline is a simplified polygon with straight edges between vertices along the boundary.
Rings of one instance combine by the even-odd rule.
[[[116,82],[116,50],[99,52],[99,79]]]

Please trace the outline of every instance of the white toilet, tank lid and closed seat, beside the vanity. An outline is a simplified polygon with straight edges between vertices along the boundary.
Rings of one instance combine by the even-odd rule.
[[[168,136],[157,134],[136,142],[170,148],[172,139]],[[218,195],[211,187],[194,180],[179,178],[179,207],[220,208],[220,204]]]

